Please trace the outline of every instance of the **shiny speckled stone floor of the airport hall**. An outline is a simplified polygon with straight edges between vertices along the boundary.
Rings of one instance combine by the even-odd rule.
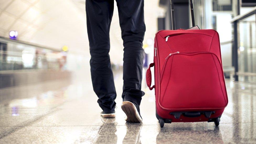
[[[143,122],[124,121],[122,74],[114,76],[119,95],[114,119],[100,117],[88,77],[0,89],[0,143],[256,143],[256,85],[226,80],[229,104],[219,127],[197,122],[160,128],[154,91],[146,84]]]

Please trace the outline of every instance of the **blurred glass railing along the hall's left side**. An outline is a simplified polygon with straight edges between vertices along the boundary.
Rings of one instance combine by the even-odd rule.
[[[65,65],[65,52],[0,38],[0,71],[63,70]]]

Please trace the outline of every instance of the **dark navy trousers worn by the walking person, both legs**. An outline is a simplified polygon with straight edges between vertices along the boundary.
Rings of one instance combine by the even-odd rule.
[[[124,41],[123,100],[140,105],[145,34],[144,0],[116,0]],[[111,70],[109,30],[114,0],[86,0],[87,31],[93,90],[99,106],[106,112],[115,109],[116,91]],[[120,49],[120,47],[114,47]]]

